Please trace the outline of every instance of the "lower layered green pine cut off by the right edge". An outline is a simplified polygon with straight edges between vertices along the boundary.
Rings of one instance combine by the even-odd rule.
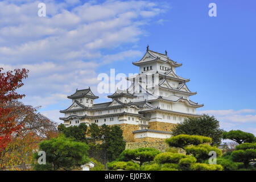
[[[234,162],[242,162],[245,168],[249,168],[250,162],[256,162],[256,143],[242,143],[236,146],[231,156]]]

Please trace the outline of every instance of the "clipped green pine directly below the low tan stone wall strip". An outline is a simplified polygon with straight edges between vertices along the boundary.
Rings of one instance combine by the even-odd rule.
[[[149,162],[154,160],[155,156],[160,153],[159,150],[155,148],[137,148],[137,149],[127,149],[123,151],[119,156],[119,161],[138,161],[142,166],[144,162]]]

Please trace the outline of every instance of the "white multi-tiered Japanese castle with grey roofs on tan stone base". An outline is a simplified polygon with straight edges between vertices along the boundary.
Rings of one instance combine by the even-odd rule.
[[[200,117],[196,108],[202,107],[189,100],[191,92],[187,78],[176,75],[182,64],[165,54],[147,51],[141,60],[133,62],[139,74],[127,77],[131,84],[110,96],[110,102],[94,104],[98,98],[90,88],[76,90],[68,96],[72,105],[60,110],[65,126],[97,123],[101,126],[118,125],[126,142],[157,141],[171,137],[171,128],[188,117]]]

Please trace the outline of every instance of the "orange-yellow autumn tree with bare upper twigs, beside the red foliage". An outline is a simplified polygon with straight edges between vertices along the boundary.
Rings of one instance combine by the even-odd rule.
[[[0,168],[5,170],[30,170],[32,152],[41,140],[56,137],[56,123],[37,112],[39,107],[23,105],[13,101],[8,107],[17,116],[16,125],[23,125],[10,136],[6,147],[0,151]]]

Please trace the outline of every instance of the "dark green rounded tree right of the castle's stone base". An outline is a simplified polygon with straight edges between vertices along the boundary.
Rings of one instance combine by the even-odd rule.
[[[177,123],[172,129],[172,135],[201,135],[212,138],[212,144],[219,145],[221,143],[223,130],[220,129],[220,122],[214,116],[210,117],[203,114],[199,118],[186,118],[183,122]]]

